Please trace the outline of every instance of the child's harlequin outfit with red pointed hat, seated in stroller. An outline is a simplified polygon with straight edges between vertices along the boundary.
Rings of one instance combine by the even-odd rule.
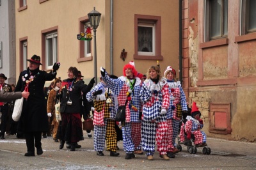
[[[199,114],[199,118],[195,118],[196,114]],[[206,134],[204,131],[200,130],[204,127],[203,120],[200,119],[201,112],[196,106],[196,102],[193,102],[191,116],[187,116],[187,122],[185,125],[185,132],[187,138],[190,139],[191,134],[195,135],[195,145],[196,146],[206,146]]]

